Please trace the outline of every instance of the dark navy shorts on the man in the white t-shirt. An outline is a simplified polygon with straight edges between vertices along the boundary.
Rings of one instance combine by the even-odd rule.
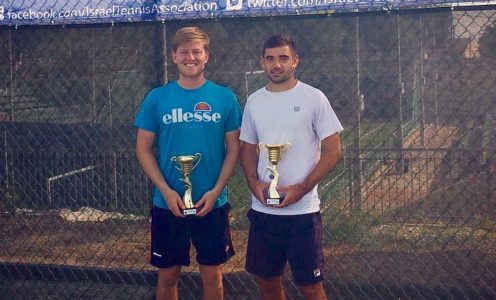
[[[320,212],[279,216],[251,209],[246,270],[262,278],[280,276],[289,262],[296,284],[322,281],[322,218]]]

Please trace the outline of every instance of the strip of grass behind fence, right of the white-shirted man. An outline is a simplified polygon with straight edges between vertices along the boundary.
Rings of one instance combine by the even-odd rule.
[[[373,212],[334,210],[323,214],[324,245],[351,245],[368,251],[485,249],[496,246],[494,221],[456,226],[449,223],[384,223]]]

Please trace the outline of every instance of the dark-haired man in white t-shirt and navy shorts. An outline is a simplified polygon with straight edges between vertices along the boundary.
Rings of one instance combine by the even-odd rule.
[[[241,162],[252,192],[246,270],[257,277],[262,299],[286,299],[287,262],[305,299],[326,298],[317,183],[341,157],[343,127],[326,96],[295,78],[298,62],[289,36],[265,40],[261,63],[269,83],[248,97],[241,125]],[[279,205],[267,204],[273,172],[259,144],[291,145],[277,164]]]

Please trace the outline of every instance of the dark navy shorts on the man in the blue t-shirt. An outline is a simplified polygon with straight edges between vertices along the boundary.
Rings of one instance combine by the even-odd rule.
[[[168,209],[154,206],[150,211],[150,264],[158,268],[189,266],[191,242],[199,264],[216,266],[225,263],[234,255],[229,227],[230,208],[226,203],[204,217],[179,218]]]

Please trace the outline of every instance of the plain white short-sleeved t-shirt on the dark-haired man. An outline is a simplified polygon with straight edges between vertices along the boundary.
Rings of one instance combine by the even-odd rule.
[[[270,92],[265,87],[248,97],[240,139],[250,144],[286,144],[290,149],[279,161],[279,187],[301,183],[320,159],[320,142],[343,130],[329,100],[320,90],[298,81],[290,90]],[[270,181],[268,152],[260,151],[258,178]],[[300,215],[320,210],[315,186],[303,198],[284,208],[263,206],[252,195],[254,210],[273,215]]]

